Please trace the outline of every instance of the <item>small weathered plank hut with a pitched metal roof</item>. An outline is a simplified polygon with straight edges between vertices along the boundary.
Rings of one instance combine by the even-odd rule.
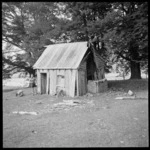
[[[37,71],[38,93],[56,95],[62,90],[71,97],[86,94],[90,81],[105,78],[104,61],[98,55],[96,65],[94,56],[87,42],[47,46],[33,66]]]

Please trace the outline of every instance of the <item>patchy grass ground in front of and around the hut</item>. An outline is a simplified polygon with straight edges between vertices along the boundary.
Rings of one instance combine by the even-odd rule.
[[[76,97],[82,103],[52,108],[68,97],[16,97],[3,92],[3,147],[148,147],[148,80],[109,81],[108,91]],[[128,90],[143,99],[116,100]],[[38,115],[13,114],[34,111]]]

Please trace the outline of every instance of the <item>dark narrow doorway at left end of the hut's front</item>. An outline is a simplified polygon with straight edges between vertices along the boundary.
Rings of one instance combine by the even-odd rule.
[[[41,73],[41,94],[46,94],[47,74]]]

